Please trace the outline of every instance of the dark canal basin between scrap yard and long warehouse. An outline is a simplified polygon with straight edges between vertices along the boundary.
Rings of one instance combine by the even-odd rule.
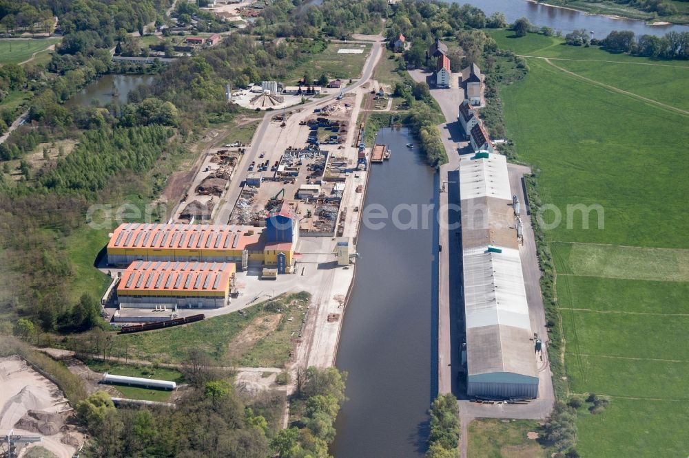
[[[438,385],[438,242],[433,210],[423,208],[435,203],[438,177],[418,148],[405,146],[412,141],[407,129],[382,129],[376,137],[391,159],[372,164],[364,208],[375,204],[389,215],[400,204],[415,208],[419,228],[397,228],[393,218],[371,219],[386,223],[380,229],[362,223],[336,360],[349,373],[331,450],[338,458],[416,457],[426,449]],[[404,210],[398,220],[409,223],[409,215]]]

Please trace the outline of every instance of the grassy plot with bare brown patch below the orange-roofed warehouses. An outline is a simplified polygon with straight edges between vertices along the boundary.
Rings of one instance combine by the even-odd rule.
[[[275,301],[243,309],[243,314],[233,312],[183,327],[120,335],[114,354],[181,363],[194,349],[216,365],[283,367],[309,298],[304,292],[278,296]]]

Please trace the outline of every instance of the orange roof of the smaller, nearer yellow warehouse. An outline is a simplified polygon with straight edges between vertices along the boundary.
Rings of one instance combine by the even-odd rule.
[[[223,292],[235,270],[234,263],[134,261],[117,292]]]

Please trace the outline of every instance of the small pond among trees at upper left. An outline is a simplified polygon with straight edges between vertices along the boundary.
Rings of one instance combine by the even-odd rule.
[[[103,75],[74,94],[65,105],[88,107],[92,105],[92,100],[98,100],[99,105],[105,105],[112,102],[115,97],[125,103],[132,90],[141,84],[152,84],[153,79],[152,75]]]

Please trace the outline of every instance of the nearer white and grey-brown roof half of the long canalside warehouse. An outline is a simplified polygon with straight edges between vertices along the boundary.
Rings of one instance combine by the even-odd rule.
[[[469,375],[537,377],[519,250],[468,248],[463,265]]]

